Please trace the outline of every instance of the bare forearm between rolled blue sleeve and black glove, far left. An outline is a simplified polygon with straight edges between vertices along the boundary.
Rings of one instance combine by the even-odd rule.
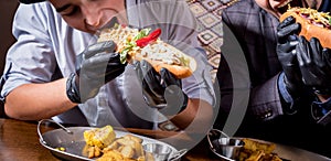
[[[66,96],[66,78],[44,84],[25,84],[13,89],[4,103],[6,114],[21,120],[50,118],[73,108]]]

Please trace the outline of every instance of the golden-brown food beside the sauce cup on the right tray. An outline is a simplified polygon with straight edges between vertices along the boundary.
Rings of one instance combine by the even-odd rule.
[[[245,146],[239,152],[239,161],[281,161],[274,152],[276,144],[244,138]]]

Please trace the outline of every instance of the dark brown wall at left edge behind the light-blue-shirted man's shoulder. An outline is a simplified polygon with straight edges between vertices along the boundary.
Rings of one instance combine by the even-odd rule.
[[[11,23],[18,4],[18,0],[0,0],[0,75],[3,72],[6,53],[14,42],[11,34]],[[3,116],[3,104],[0,103],[0,118]]]

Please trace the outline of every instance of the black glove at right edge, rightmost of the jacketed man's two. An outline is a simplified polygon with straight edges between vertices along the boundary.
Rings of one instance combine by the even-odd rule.
[[[309,42],[299,36],[297,57],[305,85],[323,95],[331,95],[330,49],[323,49],[320,41],[312,37]]]

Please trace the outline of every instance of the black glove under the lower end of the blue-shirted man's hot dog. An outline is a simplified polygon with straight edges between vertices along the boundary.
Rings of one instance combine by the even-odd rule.
[[[174,115],[186,107],[188,96],[182,92],[181,79],[166,68],[159,74],[146,61],[136,61],[134,65],[141,80],[143,99],[150,107],[162,109],[164,115]]]

